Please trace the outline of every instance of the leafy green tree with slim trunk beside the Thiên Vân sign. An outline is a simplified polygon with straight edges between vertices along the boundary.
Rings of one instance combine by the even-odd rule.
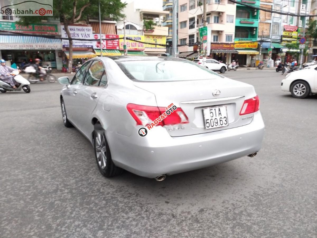
[[[123,17],[121,11],[126,3],[120,0],[100,0],[101,19],[109,17],[113,20],[119,20]],[[69,40],[69,61],[68,73],[72,72],[73,67],[73,40],[68,30],[69,24],[78,23],[87,20],[89,17],[99,16],[98,0],[54,0],[53,18],[60,19],[64,23],[65,31]],[[19,24],[28,25],[29,23],[39,23],[41,20],[47,20],[46,16],[23,16],[20,17]]]

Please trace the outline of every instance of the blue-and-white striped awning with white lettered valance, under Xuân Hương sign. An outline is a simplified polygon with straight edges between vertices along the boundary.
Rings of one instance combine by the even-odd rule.
[[[0,50],[61,50],[61,39],[0,35]]]

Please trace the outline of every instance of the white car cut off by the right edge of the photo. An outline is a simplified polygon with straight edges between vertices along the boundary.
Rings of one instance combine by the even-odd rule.
[[[295,98],[317,94],[317,65],[287,74],[282,80],[281,89],[291,92]]]

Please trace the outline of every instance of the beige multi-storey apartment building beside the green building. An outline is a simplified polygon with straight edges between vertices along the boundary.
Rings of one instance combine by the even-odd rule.
[[[231,62],[231,54],[236,52],[233,47],[236,4],[228,0],[207,0],[206,21],[211,29],[210,57]],[[178,47],[179,57],[198,57],[202,26],[203,0],[178,0],[178,44],[182,45]]]

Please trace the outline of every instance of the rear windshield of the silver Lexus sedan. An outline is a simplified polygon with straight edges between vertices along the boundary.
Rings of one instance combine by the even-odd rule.
[[[141,82],[224,78],[189,60],[133,60],[116,63],[128,78]]]

